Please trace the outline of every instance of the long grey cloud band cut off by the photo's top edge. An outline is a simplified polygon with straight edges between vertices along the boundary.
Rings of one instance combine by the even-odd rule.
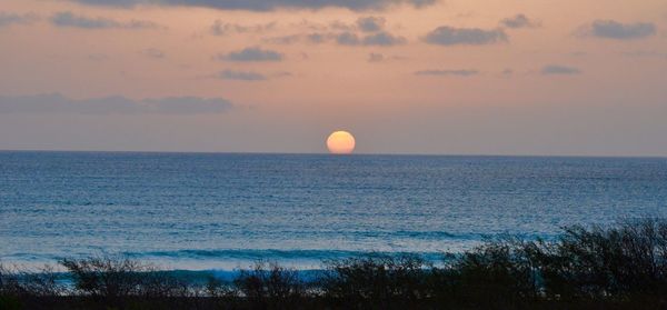
[[[84,4],[132,8],[141,4],[200,7],[220,10],[273,11],[278,9],[318,10],[344,8],[352,11],[384,10],[396,4],[426,7],[436,0],[70,0]]]

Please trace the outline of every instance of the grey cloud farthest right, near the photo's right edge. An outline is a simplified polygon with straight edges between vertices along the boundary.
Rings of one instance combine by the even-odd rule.
[[[596,20],[586,27],[583,34],[615,40],[635,40],[656,34],[650,22],[621,23],[614,20]]]

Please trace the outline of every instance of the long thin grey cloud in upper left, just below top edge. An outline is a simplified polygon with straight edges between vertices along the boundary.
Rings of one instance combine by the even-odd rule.
[[[81,29],[151,29],[158,28],[158,24],[151,21],[131,20],[129,22],[119,22],[106,18],[89,18],[77,16],[72,12],[58,12],[51,17],[51,23],[57,27],[71,27]]]

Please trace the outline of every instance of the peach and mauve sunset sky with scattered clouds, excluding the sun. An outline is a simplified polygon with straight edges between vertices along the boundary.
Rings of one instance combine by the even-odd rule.
[[[667,157],[664,0],[0,0],[0,149]]]

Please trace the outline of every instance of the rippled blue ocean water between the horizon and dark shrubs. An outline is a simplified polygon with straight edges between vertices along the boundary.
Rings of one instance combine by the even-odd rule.
[[[0,152],[0,260],[168,269],[439,259],[488,237],[667,216],[667,159]]]

